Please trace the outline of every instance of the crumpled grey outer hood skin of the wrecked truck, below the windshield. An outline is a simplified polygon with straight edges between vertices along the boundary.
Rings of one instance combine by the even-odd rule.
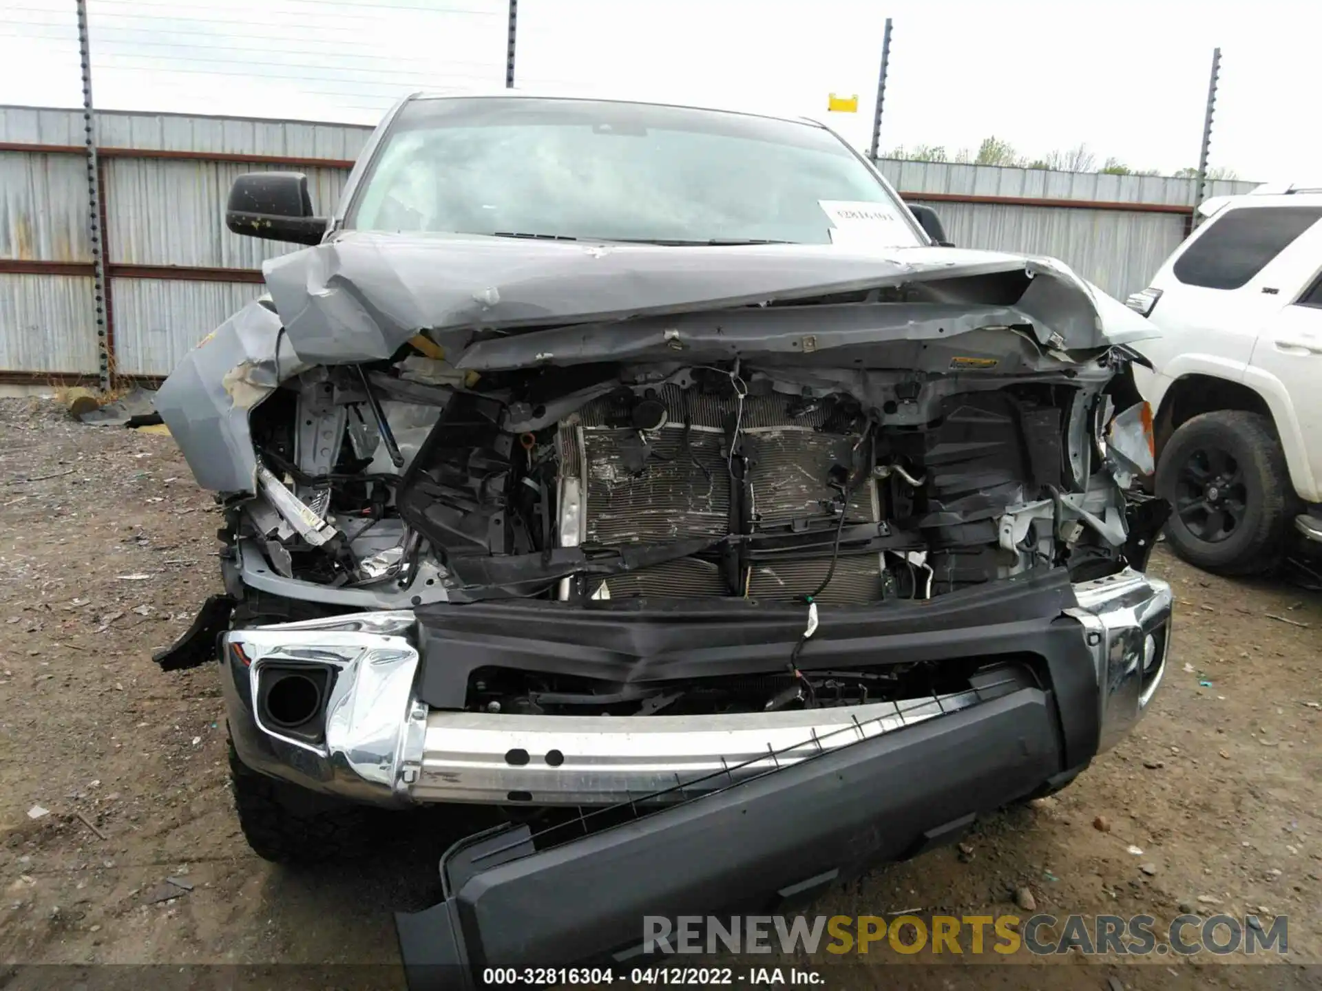
[[[1013,271],[1034,277],[1015,311],[1043,345],[1088,349],[1151,334],[1059,262],[961,248],[346,233],[263,266],[288,344],[308,365],[389,358],[420,330],[605,322]]]

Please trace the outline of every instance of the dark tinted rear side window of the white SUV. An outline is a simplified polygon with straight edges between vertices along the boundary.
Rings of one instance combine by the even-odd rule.
[[[1237,289],[1318,219],[1318,206],[1228,210],[1175,260],[1175,277],[1185,285]]]

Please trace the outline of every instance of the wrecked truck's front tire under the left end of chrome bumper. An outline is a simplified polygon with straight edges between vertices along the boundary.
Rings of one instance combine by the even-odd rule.
[[[230,784],[243,838],[278,864],[348,859],[370,843],[366,806],[320,795],[249,768],[230,741]]]

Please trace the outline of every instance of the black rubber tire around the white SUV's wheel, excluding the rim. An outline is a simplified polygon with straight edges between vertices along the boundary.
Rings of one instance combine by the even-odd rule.
[[[1290,484],[1290,472],[1285,464],[1285,452],[1276,435],[1276,427],[1268,416],[1249,412],[1247,410],[1216,410],[1214,412],[1192,416],[1179,425],[1166,449],[1162,452],[1162,462],[1157,468],[1157,492],[1166,495],[1171,492],[1171,473],[1177,470],[1165,455],[1171,448],[1179,445],[1182,432],[1196,432],[1200,429],[1216,429],[1236,435],[1252,452],[1251,462],[1244,465],[1245,473],[1256,476],[1256,484],[1261,492],[1261,513],[1257,514],[1253,536],[1248,546],[1231,560],[1218,560],[1208,556],[1196,544],[1191,544],[1179,529],[1166,525],[1166,540],[1175,554],[1183,560],[1211,571],[1216,575],[1239,576],[1259,575],[1274,568],[1284,554],[1286,535],[1293,518],[1293,506],[1297,501],[1294,488]]]

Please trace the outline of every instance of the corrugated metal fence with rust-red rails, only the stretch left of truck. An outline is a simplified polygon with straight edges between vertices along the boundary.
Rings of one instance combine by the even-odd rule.
[[[167,375],[262,291],[292,244],[225,229],[241,172],[297,168],[329,211],[370,128],[169,114],[97,115],[110,348],[127,378]],[[95,378],[82,115],[0,107],[0,381]]]

